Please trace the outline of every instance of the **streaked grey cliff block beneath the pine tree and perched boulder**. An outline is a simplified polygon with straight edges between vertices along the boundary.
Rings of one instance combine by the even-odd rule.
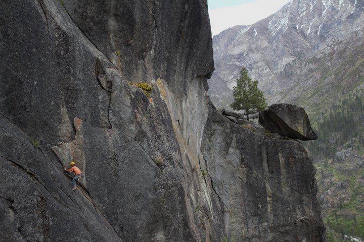
[[[229,241],[323,241],[316,169],[303,145],[226,121],[205,126],[203,155]]]

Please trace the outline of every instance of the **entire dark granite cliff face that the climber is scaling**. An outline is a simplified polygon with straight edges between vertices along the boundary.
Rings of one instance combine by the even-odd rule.
[[[206,1],[2,1],[0,16],[0,240],[324,240],[302,145],[211,106]]]

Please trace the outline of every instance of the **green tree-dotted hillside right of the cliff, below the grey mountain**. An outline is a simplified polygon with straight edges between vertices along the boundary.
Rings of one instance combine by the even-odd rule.
[[[339,234],[361,238],[364,238],[363,100],[362,90],[348,95],[313,125],[319,138],[307,143],[317,168],[317,198],[325,225]]]

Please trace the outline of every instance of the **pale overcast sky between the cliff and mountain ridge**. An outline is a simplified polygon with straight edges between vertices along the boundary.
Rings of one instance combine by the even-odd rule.
[[[251,25],[276,13],[290,0],[207,0],[212,36],[236,25]]]

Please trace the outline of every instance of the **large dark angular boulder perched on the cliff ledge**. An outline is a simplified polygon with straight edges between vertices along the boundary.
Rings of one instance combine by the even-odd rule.
[[[308,115],[302,107],[292,104],[273,104],[259,112],[259,124],[265,129],[299,140],[316,140]]]

